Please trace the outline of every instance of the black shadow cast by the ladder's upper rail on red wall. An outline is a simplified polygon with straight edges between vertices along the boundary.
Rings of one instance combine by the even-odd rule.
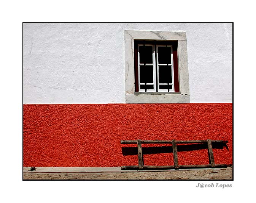
[[[212,143],[213,149],[223,149],[226,148],[227,144],[223,143]],[[207,143],[200,143],[200,144],[177,144],[177,151],[194,151],[194,150],[202,150],[207,149]],[[160,147],[142,147],[142,154],[149,155],[149,154],[160,154],[160,153],[173,153],[172,145],[169,146],[160,146]],[[138,155],[137,147],[122,147],[122,155],[129,156],[129,155]]]

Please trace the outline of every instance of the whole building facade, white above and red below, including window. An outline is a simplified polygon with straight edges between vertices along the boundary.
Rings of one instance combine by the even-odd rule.
[[[23,103],[24,167],[232,164],[232,23],[24,23]]]

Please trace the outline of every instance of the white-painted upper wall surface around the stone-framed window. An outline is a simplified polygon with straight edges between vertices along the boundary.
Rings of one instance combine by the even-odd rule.
[[[24,23],[24,104],[125,103],[124,30],[186,31],[191,103],[232,102],[232,24]]]

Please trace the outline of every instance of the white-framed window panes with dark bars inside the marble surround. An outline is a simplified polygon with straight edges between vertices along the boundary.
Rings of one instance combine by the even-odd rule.
[[[179,92],[177,42],[134,41],[135,92]]]

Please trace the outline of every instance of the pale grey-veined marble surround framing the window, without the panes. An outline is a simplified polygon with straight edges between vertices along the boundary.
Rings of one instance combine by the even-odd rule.
[[[178,41],[180,92],[134,92],[134,39]],[[124,58],[126,103],[189,103],[186,32],[125,30]]]

